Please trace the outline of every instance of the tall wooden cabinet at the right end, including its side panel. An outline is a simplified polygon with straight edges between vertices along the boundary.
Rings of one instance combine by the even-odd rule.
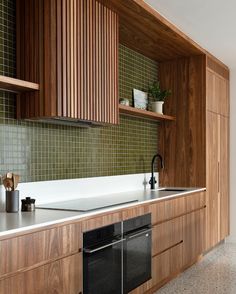
[[[162,186],[206,186],[206,249],[229,234],[229,70],[200,55],[159,68],[172,90],[165,109],[176,122],[161,126]],[[176,82],[177,81],[177,82]]]

